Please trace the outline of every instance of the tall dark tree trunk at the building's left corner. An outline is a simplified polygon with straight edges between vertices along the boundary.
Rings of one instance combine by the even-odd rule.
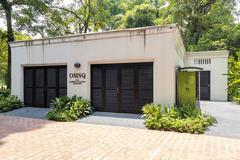
[[[14,41],[14,34],[12,29],[12,6],[7,0],[2,0],[1,4],[5,11],[5,17],[7,21],[7,42]],[[8,44],[8,68],[7,68],[7,87],[11,89],[11,48]]]

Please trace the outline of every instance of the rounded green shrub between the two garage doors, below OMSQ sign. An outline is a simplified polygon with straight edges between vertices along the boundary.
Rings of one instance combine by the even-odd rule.
[[[81,97],[60,97],[53,100],[48,119],[55,121],[75,121],[91,114],[93,108],[90,102]]]

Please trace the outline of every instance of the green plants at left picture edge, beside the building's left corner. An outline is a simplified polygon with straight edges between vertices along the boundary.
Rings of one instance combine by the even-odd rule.
[[[8,112],[23,106],[23,102],[17,96],[10,94],[10,90],[0,89],[0,112]]]

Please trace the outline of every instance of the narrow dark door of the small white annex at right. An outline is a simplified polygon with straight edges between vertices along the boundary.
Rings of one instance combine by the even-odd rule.
[[[199,74],[197,75],[197,94],[199,94]],[[200,71],[200,100],[210,100],[210,71]]]

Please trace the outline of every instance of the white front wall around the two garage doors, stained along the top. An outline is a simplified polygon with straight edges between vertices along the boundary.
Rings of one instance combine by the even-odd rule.
[[[149,27],[12,43],[12,94],[24,97],[24,66],[66,64],[68,74],[84,72],[86,83],[68,83],[67,92],[90,99],[91,64],[153,62],[154,102],[174,104],[176,31],[175,27]],[[80,69],[75,62],[81,63]]]

